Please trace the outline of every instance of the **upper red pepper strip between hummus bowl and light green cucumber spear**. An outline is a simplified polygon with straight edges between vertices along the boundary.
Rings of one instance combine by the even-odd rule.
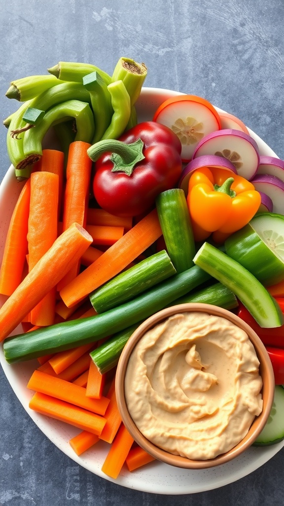
[[[277,299],[277,302],[279,299]],[[282,311],[284,310],[284,299],[281,299]],[[280,304],[281,304],[280,303]],[[284,325],[275,328],[262,328],[258,325],[251,313],[239,302],[238,316],[242,318],[258,334],[265,346],[275,346],[284,349]]]

